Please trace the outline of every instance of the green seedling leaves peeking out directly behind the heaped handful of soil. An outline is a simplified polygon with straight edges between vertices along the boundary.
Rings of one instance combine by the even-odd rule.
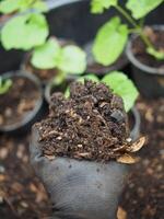
[[[115,94],[121,96],[126,112],[129,112],[132,108],[139,95],[134,83],[121,71],[112,71],[104,76],[102,80],[99,80],[95,74],[86,74],[80,77],[77,81],[84,83],[84,80],[105,83]],[[65,96],[69,97],[69,95],[70,90],[67,88]]]

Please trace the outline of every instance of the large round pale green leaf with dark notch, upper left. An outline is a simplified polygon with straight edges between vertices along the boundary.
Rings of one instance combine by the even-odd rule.
[[[43,14],[17,15],[2,27],[1,43],[7,50],[12,48],[28,50],[44,44],[48,32],[48,24]]]

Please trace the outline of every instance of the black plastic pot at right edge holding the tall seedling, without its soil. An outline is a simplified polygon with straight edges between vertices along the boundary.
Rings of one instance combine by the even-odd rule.
[[[164,31],[163,25],[153,26],[156,31]],[[127,45],[127,57],[131,62],[131,74],[134,79],[140,93],[145,97],[164,96],[164,61],[160,68],[154,68],[142,64],[132,53],[133,41],[137,38],[133,35]]]

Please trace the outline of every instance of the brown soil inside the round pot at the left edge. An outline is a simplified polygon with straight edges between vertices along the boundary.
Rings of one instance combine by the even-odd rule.
[[[12,87],[0,95],[0,127],[21,123],[33,111],[39,92],[27,78],[12,78]]]

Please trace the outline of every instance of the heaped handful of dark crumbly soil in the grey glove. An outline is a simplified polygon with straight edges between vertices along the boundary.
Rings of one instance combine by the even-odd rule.
[[[49,116],[36,124],[47,158],[109,161],[131,150],[121,97],[105,84],[85,81],[70,87],[70,97],[55,93]]]

